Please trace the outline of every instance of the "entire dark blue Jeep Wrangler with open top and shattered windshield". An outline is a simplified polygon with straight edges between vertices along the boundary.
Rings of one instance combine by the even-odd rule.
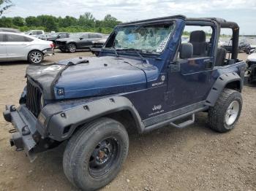
[[[196,30],[181,42],[186,26],[211,28],[211,36]],[[233,31],[229,59],[217,47],[221,28]],[[232,130],[246,67],[237,58],[238,36],[236,23],[219,18],[161,17],[116,26],[97,57],[30,65],[20,106],[4,111],[15,126],[10,144],[33,161],[66,141],[67,179],[97,190],[121,171],[127,132],[184,128],[197,112],[208,112],[213,130]]]

